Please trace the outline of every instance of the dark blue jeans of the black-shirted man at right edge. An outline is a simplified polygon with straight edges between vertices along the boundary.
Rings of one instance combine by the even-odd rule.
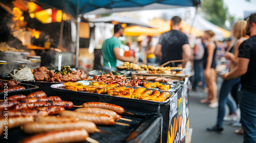
[[[244,143],[256,142],[256,92],[241,90],[241,123],[244,129]]]

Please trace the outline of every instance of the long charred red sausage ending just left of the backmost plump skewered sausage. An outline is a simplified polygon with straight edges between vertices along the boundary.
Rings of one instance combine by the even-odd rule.
[[[29,109],[35,107],[47,106],[63,106],[66,109],[71,109],[74,105],[70,101],[48,101],[48,102],[34,102],[34,103],[19,103],[14,106],[16,110]]]

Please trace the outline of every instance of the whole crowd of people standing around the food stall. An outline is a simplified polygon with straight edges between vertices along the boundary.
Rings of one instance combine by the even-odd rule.
[[[180,23],[181,18],[174,16],[170,31],[160,36],[156,46],[152,43],[151,36],[147,36],[145,45],[142,45],[142,41],[139,40],[139,54],[137,54],[139,58],[137,59],[148,64],[154,64],[157,59],[160,59],[160,65],[172,60],[182,60],[182,62],[171,62],[165,66],[185,67],[193,57],[195,70],[193,88],[203,87],[208,92],[207,98],[200,103],[208,104],[209,108],[218,107],[217,123],[207,130],[222,132],[224,121],[239,120],[236,110],[240,107],[242,128],[235,132],[244,134],[244,142],[256,142],[256,13],[251,14],[247,21],[241,20],[234,24],[233,37],[228,38],[227,46],[222,48],[229,72],[222,75],[223,83],[218,96],[219,100],[217,99],[216,66],[217,50],[220,45],[215,40],[215,33],[210,30],[205,31],[191,48],[188,37],[180,31]],[[125,54],[129,56],[120,56],[121,42],[118,37],[122,34],[121,25],[115,25],[114,36],[105,40],[102,45],[105,69],[115,69],[116,60],[138,62],[135,58],[136,52],[131,48]],[[131,43],[127,45],[131,47]],[[236,104],[228,97],[230,92]],[[229,107],[229,113],[225,116],[226,104]]]

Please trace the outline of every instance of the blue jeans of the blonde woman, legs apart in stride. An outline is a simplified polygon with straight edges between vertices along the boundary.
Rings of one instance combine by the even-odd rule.
[[[236,112],[236,107],[233,101],[228,97],[228,93],[232,90],[232,87],[240,82],[240,78],[224,80],[221,85],[219,107],[218,107],[218,118],[217,125],[223,127],[223,118],[225,116],[225,105],[227,103],[229,107],[229,114]]]

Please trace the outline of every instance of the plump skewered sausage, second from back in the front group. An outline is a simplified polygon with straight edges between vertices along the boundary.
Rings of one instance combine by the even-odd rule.
[[[81,113],[89,113],[89,114],[103,114],[103,115],[109,115],[114,118],[114,120],[119,120],[121,117],[119,114],[112,110],[108,109],[100,109],[100,108],[77,108],[75,109],[76,112],[81,112]]]

